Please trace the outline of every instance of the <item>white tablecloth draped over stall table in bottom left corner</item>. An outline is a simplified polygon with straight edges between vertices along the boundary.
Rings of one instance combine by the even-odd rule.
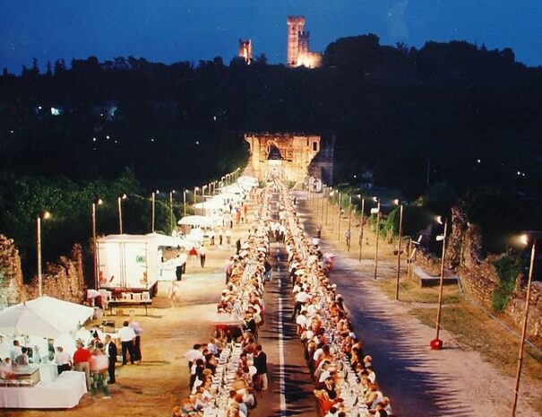
[[[87,392],[84,372],[68,370],[55,382],[0,387],[0,408],[73,408]]]

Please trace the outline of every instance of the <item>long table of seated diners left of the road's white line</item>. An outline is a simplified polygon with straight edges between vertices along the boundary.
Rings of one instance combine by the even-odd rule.
[[[216,333],[186,352],[191,394],[173,416],[246,417],[256,391],[267,389],[267,363],[258,343],[263,291],[270,252],[269,193],[256,196],[259,210],[247,238],[224,267],[226,287],[217,305]]]

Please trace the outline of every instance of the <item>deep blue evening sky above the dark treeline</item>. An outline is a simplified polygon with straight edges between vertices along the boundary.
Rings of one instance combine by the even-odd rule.
[[[542,0],[0,0],[0,68],[19,74],[32,57],[50,60],[144,56],[172,63],[237,53],[286,60],[286,18],[304,14],[311,49],[373,32],[382,44],[464,39],[510,47],[542,65]]]

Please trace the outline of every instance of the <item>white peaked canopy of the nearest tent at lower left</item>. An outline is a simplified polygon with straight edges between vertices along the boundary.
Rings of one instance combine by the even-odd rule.
[[[56,338],[77,330],[93,314],[92,308],[50,297],[40,299],[5,308],[0,312],[0,331]]]

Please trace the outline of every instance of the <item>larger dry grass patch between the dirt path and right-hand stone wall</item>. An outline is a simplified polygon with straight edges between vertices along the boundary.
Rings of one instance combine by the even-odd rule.
[[[436,308],[412,308],[409,313],[426,326],[435,326]],[[520,338],[466,301],[443,308],[441,324],[459,343],[469,346],[508,377],[514,377]],[[445,344],[445,342],[444,342]],[[525,345],[522,384],[542,382],[542,355]],[[511,387],[512,392],[512,387]],[[512,395],[512,394],[511,394]],[[542,399],[531,404],[542,415]]]

